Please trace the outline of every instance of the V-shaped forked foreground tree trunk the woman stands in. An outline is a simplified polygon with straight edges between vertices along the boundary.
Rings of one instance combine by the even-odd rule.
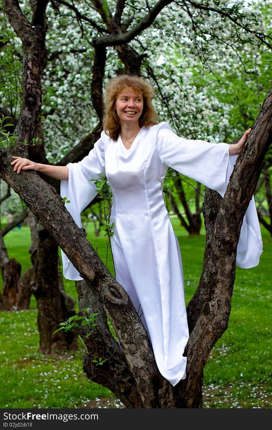
[[[98,302],[94,303],[93,309],[101,313],[102,328],[98,337],[93,335],[91,344],[86,339],[89,351],[84,358],[84,369],[89,378],[106,385],[117,396],[120,397],[123,392],[122,400],[128,407],[202,407],[203,369],[212,347],[228,326],[239,232],[272,140],[271,119],[272,91],[264,101],[251,135],[238,157],[226,194],[212,221],[214,228],[207,228],[205,252],[208,257],[205,258],[196,295],[187,307],[191,331],[187,348],[187,376],[175,387],[160,375],[147,333],[128,295],[113,279],[83,231],[62,206],[61,197],[36,172],[21,172],[20,175],[12,172],[9,165],[11,154],[0,151],[0,177],[24,198],[32,212],[55,237],[86,280],[89,291],[85,294],[89,295],[90,301],[92,296],[95,297],[109,316],[122,349],[110,338],[101,307],[98,307]],[[78,294],[81,298],[83,292],[80,288]],[[105,370],[99,369],[98,372],[92,360],[99,358],[100,354],[108,360]]]

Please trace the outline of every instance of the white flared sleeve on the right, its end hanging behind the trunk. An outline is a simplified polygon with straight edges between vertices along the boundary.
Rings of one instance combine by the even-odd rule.
[[[188,140],[177,136],[169,124],[160,123],[156,148],[166,166],[216,190],[223,197],[237,159],[237,156],[229,156],[229,144]],[[236,265],[242,268],[257,266],[262,252],[260,223],[252,197],[241,226]]]

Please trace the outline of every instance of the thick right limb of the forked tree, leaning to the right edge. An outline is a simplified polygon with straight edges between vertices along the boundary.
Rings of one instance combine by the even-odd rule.
[[[187,390],[196,390],[208,355],[227,329],[236,252],[245,211],[257,186],[264,158],[272,142],[272,89],[270,89],[251,134],[232,172],[218,211],[209,245],[210,256],[204,272],[204,304],[188,341]],[[191,303],[191,302],[190,302]],[[191,305],[189,304],[187,309]],[[188,321],[190,323],[190,321]],[[196,350],[200,345],[200,350]],[[193,370],[193,372],[190,371]],[[188,404],[193,398],[188,400]]]

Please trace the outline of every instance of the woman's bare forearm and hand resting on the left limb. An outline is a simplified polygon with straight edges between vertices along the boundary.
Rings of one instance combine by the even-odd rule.
[[[34,163],[34,161],[27,158],[12,157],[13,161],[10,163],[14,166],[13,171],[20,173],[21,170],[37,170],[50,178],[59,179],[60,181],[68,181],[69,170],[66,166],[51,166],[50,164]]]

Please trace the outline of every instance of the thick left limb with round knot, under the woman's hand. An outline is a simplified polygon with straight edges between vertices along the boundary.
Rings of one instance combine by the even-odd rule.
[[[159,373],[147,332],[128,294],[104,266],[55,189],[36,172],[17,175],[10,166],[11,160],[12,154],[0,150],[0,178],[19,194],[40,219],[98,297],[119,338],[138,391],[142,393],[144,407],[164,404],[165,398],[161,398],[160,389],[168,387],[169,392],[173,392],[173,387]]]

